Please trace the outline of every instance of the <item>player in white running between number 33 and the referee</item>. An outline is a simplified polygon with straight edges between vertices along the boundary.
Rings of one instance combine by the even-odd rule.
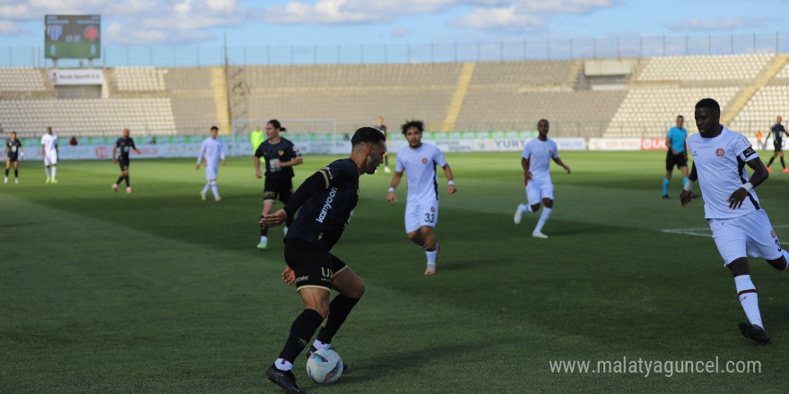
[[[513,220],[515,224],[521,222],[524,212],[532,213],[540,210],[540,202],[545,205],[534,227],[532,236],[535,238],[548,238],[542,234],[542,227],[551,217],[553,210],[553,182],[551,182],[551,159],[570,173],[570,167],[559,158],[556,142],[548,138],[550,124],[545,119],[537,122],[537,138],[526,142],[524,153],[521,155],[521,167],[524,167],[524,183],[526,184],[526,197],[528,203],[518,204]]]

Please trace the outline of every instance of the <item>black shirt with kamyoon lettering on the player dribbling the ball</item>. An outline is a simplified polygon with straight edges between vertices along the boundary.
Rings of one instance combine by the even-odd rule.
[[[320,244],[329,251],[351,223],[353,209],[359,202],[359,167],[351,158],[343,158],[318,172],[325,177],[326,188],[299,208],[285,242],[296,238]]]

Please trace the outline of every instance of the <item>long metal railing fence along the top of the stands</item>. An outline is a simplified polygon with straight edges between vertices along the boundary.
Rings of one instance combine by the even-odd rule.
[[[377,45],[290,45],[227,47],[230,64],[386,64],[512,61],[789,52],[789,33],[640,36],[499,42],[442,42]],[[160,67],[224,64],[219,46],[102,47],[94,66]],[[0,46],[2,67],[46,67],[41,47]],[[60,59],[60,67],[87,66],[87,60]]]

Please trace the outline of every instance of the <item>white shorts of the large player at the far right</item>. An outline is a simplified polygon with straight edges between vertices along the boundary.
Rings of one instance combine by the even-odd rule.
[[[757,210],[738,218],[711,218],[709,228],[724,266],[741,257],[760,257],[765,260],[780,258],[778,241],[765,210]]]

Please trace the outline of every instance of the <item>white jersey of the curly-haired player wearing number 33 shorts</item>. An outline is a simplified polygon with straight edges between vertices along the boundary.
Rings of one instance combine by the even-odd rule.
[[[422,142],[421,147],[407,146],[397,151],[395,171],[405,171],[408,180],[408,201],[438,201],[436,166],[447,166],[447,159],[435,145]]]

